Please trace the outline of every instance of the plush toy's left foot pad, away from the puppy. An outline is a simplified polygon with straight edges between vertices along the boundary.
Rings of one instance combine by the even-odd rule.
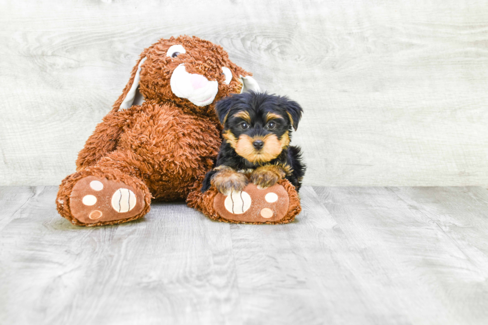
[[[122,182],[87,176],[73,187],[69,206],[79,221],[96,223],[134,217],[144,205],[141,190]]]

